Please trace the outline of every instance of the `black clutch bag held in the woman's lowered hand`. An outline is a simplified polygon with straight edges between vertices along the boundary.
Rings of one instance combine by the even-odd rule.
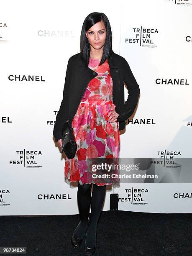
[[[73,134],[72,125],[69,119],[64,123],[62,130],[62,147],[61,154],[64,152],[69,159],[74,158],[77,151],[77,143]]]

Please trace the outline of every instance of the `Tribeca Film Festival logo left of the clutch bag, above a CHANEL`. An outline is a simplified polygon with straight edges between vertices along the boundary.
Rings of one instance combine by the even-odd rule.
[[[42,156],[41,151],[32,150],[16,150],[17,160],[10,160],[9,164],[20,164],[27,168],[39,168],[42,167],[38,163],[39,156]]]

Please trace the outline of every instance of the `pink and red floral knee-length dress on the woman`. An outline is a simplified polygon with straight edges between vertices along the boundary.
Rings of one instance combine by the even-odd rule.
[[[108,60],[100,66],[99,63],[100,59],[90,58],[89,68],[98,75],[89,82],[73,118],[77,152],[73,159],[66,158],[64,174],[71,182],[102,186],[112,183],[93,179],[91,172],[87,171],[87,159],[119,158],[120,134],[117,121],[107,122],[108,113],[116,107],[113,104],[113,80]]]

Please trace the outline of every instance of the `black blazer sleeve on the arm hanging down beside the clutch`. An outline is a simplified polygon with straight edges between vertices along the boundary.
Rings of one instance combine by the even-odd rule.
[[[67,70],[65,75],[64,89],[63,89],[63,99],[59,108],[59,112],[56,115],[56,121],[54,124],[53,135],[55,141],[57,142],[62,138],[62,128],[64,123],[69,118],[69,87],[70,87],[70,77],[71,77],[71,68],[70,68],[70,58],[67,63]]]

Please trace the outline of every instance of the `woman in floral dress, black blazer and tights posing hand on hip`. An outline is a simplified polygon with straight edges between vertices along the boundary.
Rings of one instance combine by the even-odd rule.
[[[127,61],[112,50],[110,23],[104,13],[90,13],[85,18],[80,49],[68,61],[53,134],[62,146],[62,127],[69,118],[77,153],[74,159],[66,158],[65,177],[78,181],[80,216],[71,243],[74,248],[79,247],[86,234],[84,255],[93,255],[106,185],[112,184],[112,180],[93,178],[88,159],[118,159],[119,130],[125,128],[125,120],[133,114],[140,90]],[[129,90],[126,102],[123,81]]]

